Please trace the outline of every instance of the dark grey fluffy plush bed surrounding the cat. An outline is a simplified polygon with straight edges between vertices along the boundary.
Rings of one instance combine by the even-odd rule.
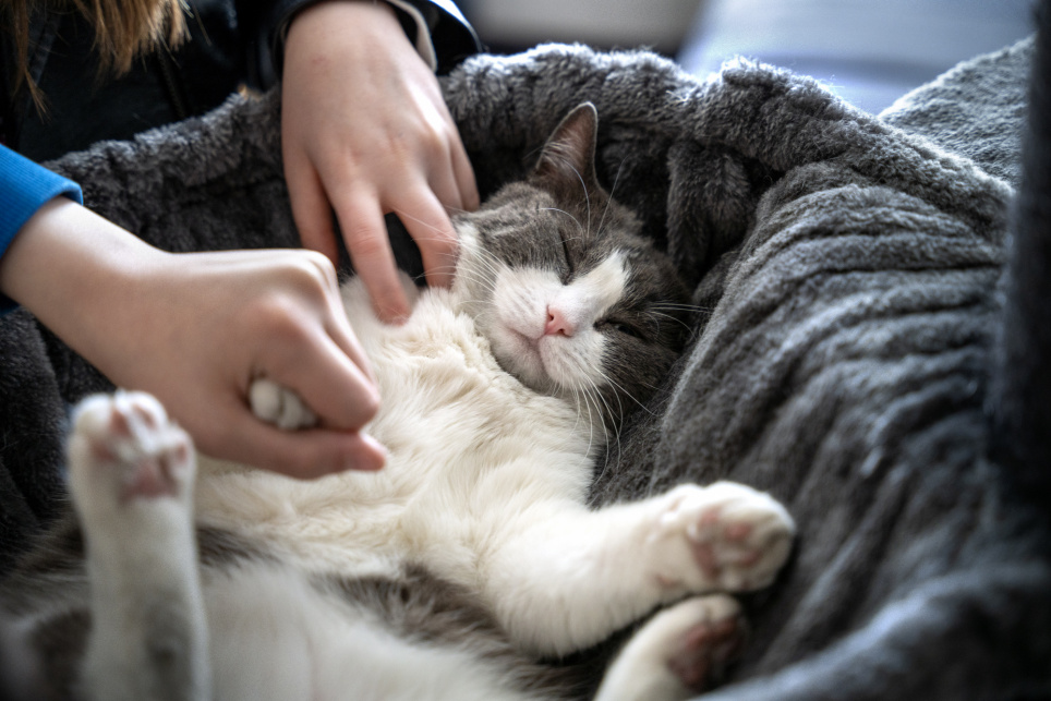
[[[475,57],[444,83],[483,195],[594,102],[600,178],[696,290],[689,352],[594,501],[732,479],[799,522],[712,699],[1051,694],[1048,513],[987,458],[983,412],[1029,48],[880,118],[770,67],[702,82],[582,47]],[[273,96],[237,99],[57,168],[162,247],[293,245],[277,121]],[[0,490],[26,495],[3,503],[10,535],[55,508],[64,402],[105,380],[24,314],[0,324]]]

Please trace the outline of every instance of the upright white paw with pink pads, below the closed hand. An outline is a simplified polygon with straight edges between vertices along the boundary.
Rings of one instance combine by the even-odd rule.
[[[95,395],[77,404],[69,442],[70,482],[78,506],[121,507],[171,498],[189,503],[192,443],[144,392]]]

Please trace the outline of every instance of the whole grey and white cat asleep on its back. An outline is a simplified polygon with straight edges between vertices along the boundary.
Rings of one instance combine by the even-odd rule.
[[[579,670],[548,661],[657,609],[595,698],[706,685],[744,636],[728,593],[773,581],[794,524],[733,483],[587,507],[597,458],[689,333],[672,263],[599,184],[596,130],[581,105],[526,180],[456,217],[455,282],[407,278],[403,325],[343,285],[384,397],[369,427],[389,451],[380,472],[304,482],[224,463],[148,395],[84,400],[68,448],[81,525],[0,592],[22,691],[585,698]],[[265,378],[251,403],[289,430],[314,421]]]

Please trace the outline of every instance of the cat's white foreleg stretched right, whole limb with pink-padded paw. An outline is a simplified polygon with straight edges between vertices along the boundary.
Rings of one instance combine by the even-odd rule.
[[[687,594],[766,587],[795,531],[776,500],[729,482],[595,511],[534,505],[493,528],[483,591],[510,636],[540,654],[594,644]]]

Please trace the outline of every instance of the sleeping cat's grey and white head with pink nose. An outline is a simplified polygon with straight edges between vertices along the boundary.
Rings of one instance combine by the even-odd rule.
[[[524,181],[458,217],[457,286],[504,370],[608,425],[671,368],[689,300],[671,259],[599,184],[596,129],[581,105]]]

